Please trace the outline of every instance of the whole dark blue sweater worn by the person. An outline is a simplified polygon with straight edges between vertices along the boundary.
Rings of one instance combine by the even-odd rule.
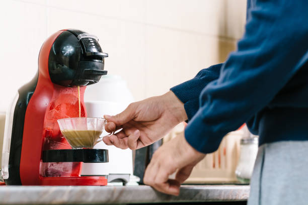
[[[245,122],[259,145],[308,140],[308,1],[248,1],[245,30],[224,63],[171,88],[200,152]]]

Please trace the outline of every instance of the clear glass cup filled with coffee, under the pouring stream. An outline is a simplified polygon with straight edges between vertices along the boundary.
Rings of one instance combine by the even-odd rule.
[[[73,149],[93,149],[94,145],[103,140],[101,134],[107,120],[104,118],[64,118],[57,122],[62,135]]]

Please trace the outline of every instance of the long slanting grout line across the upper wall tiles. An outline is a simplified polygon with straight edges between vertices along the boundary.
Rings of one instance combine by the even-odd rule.
[[[122,22],[140,24],[140,25],[144,25],[144,26],[151,26],[151,27],[160,28],[160,29],[166,29],[166,30],[177,31],[177,32],[182,32],[182,33],[189,33],[189,34],[194,34],[194,35],[198,35],[198,36],[207,36],[207,37],[216,38],[216,39],[222,40],[222,41],[234,42],[234,41],[238,41],[239,40],[239,39],[234,38],[234,37],[227,37],[227,36],[214,35],[214,34],[197,32],[197,31],[192,31],[192,30],[187,30],[187,29],[179,29],[179,28],[160,26],[160,25],[156,25],[156,24],[145,23],[145,22],[134,21],[134,20],[126,20],[126,19],[121,19],[121,18],[117,18],[117,17],[102,16],[102,15],[92,14],[92,13],[83,12],[83,11],[69,10],[69,9],[64,9],[64,8],[60,8],[60,7],[53,7],[53,6],[43,5],[43,4],[27,2],[27,1],[24,1],[24,0],[13,0],[13,1],[27,3],[27,4],[33,4],[33,5],[38,5],[38,6],[52,8],[52,9],[58,9],[58,10],[62,10],[62,11],[69,11],[69,12],[81,13],[81,14],[86,14],[86,15],[91,15],[91,16],[98,16],[98,17],[102,17],[102,18],[106,18],[106,19],[112,19],[112,20],[117,20],[117,21],[122,21]]]

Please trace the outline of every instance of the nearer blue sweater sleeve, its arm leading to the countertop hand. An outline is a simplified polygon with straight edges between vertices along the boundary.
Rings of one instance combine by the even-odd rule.
[[[257,1],[238,50],[202,90],[187,142],[215,151],[223,136],[264,108],[308,59],[308,1]]]

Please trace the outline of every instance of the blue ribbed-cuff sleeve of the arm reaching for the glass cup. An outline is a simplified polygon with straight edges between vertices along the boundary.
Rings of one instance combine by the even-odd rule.
[[[183,82],[170,90],[184,103],[184,108],[188,121],[197,113],[199,109],[199,96],[202,89],[211,81],[219,77],[222,64],[213,65],[202,69],[191,80]]]

